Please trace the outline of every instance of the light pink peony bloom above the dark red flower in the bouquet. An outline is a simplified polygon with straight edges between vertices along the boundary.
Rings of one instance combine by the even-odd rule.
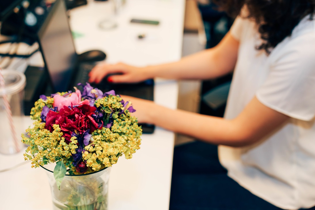
[[[74,93],[68,93],[64,96],[60,96],[59,94],[56,94],[54,96],[54,107],[57,107],[57,111],[59,112],[61,108],[64,106],[75,106],[75,105],[81,105],[81,104],[87,104],[89,105],[89,100],[85,99],[84,101],[81,101],[81,91],[77,90]]]

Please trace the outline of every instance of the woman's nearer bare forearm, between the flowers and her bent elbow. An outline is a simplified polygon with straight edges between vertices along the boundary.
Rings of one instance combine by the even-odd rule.
[[[176,133],[185,134],[212,144],[243,146],[243,137],[232,120],[172,110],[155,105],[148,114],[149,123]],[[246,144],[246,143],[245,143]]]

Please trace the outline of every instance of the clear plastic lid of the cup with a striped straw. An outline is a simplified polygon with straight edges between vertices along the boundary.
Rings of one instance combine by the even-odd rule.
[[[0,87],[0,96],[12,95],[20,92],[26,85],[26,77],[15,70],[2,70],[4,87]]]

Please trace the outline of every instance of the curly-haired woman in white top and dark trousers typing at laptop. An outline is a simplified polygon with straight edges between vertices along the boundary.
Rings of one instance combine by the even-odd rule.
[[[234,70],[224,118],[130,98],[139,121],[205,142],[175,149],[170,209],[311,208],[315,1],[218,2],[240,15],[216,47],[157,66],[102,64],[92,70],[90,82],[117,72],[123,74],[111,76],[110,82],[211,79]],[[211,144],[220,145],[220,163]]]

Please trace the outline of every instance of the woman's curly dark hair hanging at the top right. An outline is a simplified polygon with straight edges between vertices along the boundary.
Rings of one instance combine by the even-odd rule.
[[[315,0],[213,0],[218,9],[230,16],[240,13],[244,5],[249,15],[259,26],[259,33],[263,43],[256,46],[258,50],[270,50],[277,46],[284,38],[290,36],[296,25],[306,16],[315,11]]]

